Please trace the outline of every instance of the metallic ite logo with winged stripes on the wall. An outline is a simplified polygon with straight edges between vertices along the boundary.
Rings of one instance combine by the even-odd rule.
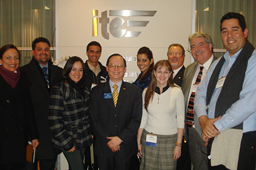
[[[142,16],[153,17],[157,11],[139,11],[139,10],[109,10],[109,16],[120,16],[109,20],[107,17],[107,11],[101,12],[101,17],[98,16],[98,10],[92,10],[92,36],[98,37],[98,24],[101,24],[101,35],[104,39],[109,40],[109,33],[107,32],[107,24],[109,24],[109,32],[112,36],[120,37],[138,37],[141,31],[129,31],[127,29],[121,29],[126,24],[129,27],[146,27],[149,24],[149,20],[127,20],[122,17],[129,16]]]

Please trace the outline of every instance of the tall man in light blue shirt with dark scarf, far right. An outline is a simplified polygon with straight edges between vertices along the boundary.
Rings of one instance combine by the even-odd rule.
[[[220,25],[227,52],[208,71],[195,98],[209,169],[255,170],[256,50],[246,40],[242,14],[227,13]]]

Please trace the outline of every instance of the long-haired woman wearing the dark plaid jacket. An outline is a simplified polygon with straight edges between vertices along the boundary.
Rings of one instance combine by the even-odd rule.
[[[85,148],[92,144],[83,60],[76,56],[69,58],[63,77],[65,80],[51,90],[49,124],[53,145],[63,151],[70,169],[82,170]]]

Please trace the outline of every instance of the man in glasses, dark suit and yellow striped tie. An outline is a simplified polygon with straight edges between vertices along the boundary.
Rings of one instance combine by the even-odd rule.
[[[95,154],[101,170],[129,169],[130,158],[138,152],[141,90],[123,81],[126,61],[120,54],[110,55],[106,69],[109,81],[92,89],[89,102]]]

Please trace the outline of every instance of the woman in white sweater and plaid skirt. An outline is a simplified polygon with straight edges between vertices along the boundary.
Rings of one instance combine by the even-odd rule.
[[[140,169],[176,169],[181,156],[184,96],[173,85],[171,74],[170,63],[158,61],[149,87],[142,93],[144,108],[137,135]]]

